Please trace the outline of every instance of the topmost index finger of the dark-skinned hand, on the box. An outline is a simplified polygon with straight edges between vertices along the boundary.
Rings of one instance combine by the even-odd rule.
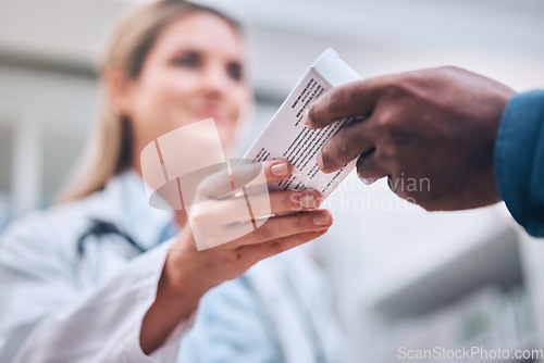
[[[378,102],[379,80],[378,77],[369,78],[327,90],[309,104],[304,113],[304,123],[313,129],[372,113]]]

